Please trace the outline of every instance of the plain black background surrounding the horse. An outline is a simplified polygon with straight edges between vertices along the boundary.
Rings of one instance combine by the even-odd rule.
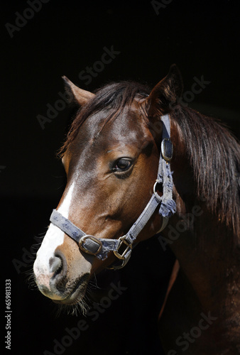
[[[62,75],[89,91],[116,80],[153,86],[176,63],[185,91],[194,77],[210,82],[189,106],[222,119],[239,137],[237,1],[166,2],[157,13],[151,1],[50,0],[13,38],[5,25],[16,26],[16,12],[29,4],[1,2],[1,285],[4,293],[11,279],[12,354],[54,354],[54,339],[61,341],[65,328],[82,317],[56,317],[53,303],[27,283],[34,236],[45,233],[65,184],[56,151],[73,111],[62,109],[44,129],[36,118],[60,99]],[[80,80],[79,73],[111,46],[120,54],[91,83]],[[121,280],[126,292],[97,321],[88,319],[89,329],[59,354],[160,354],[155,320],[168,276],[164,267],[173,261],[161,252],[153,239],[134,251],[126,271],[104,273],[109,282]],[[4,325],[3,312],[2,320]]]

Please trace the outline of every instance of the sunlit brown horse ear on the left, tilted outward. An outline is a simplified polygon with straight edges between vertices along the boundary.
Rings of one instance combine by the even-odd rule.
[[[92,92],[77,87],[67,77],[63,76],[62,79],[65,82],[65,90],[70,97],[70,102],[77,102],[77,104],[82,106],[87,104],[87,102],[95,96]]]

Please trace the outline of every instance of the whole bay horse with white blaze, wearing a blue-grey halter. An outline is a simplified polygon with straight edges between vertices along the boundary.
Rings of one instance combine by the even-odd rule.
[[[160,231],[180,266],[159,321],[165,354],[240,354],[239,143],[182,107],[176,65],[152,90],[117,82],[93,94],[64,80],[80,110],[33,266],[40,292],[84,305],[94,273],[123,267]]]

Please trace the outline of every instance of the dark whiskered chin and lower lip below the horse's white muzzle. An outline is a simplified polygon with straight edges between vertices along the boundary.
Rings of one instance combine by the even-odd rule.
[[[81,278],[75,281],[75,285],[71,287],[70,292],[67,293],[67,297],[62,300],[53,300],[53,302],[60,305],[80,305],[83,302],[84,295],[87,290],[89,282],[89,273],[85,273]]]

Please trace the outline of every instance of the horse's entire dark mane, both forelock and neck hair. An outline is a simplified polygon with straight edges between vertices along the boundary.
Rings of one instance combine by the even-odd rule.
[[[98,89],[96,96],[77,112],[58,153],[64,154],[87,117],[106,110],[104,124],[107,124],[123,109],[130,108],[134,98],[146,97],[150,91],[146,85],[129,81],[114,82]],[[185,137],[196,195],[204,198],[212,213],[239,235],[239,143],[223,124],[193,109],[177,105],[170,116],[178,122]]]

